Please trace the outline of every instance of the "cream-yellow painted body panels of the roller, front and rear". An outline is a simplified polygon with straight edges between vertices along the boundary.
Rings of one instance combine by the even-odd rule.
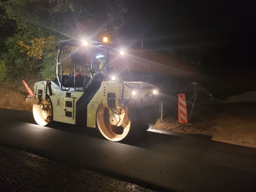
[[[83,91],[63,91],[53,82],[50,87],[47,86],[46,81],[37,82],[34,86],[36,103],[38,103],[38,90],[42,90],[43,101],[50,98],[53,121],[76,124],[76,103],[84,94]],[[136,91],[136,94],[132,95],[132,91]],[[99,105],[102,103],[103,106],[109,108],[108,93],[114,93],[116,95],[114,98],[116,107],[123,108],[128,103],[143,105],[141,99],[153,97],[153,91],[158,93],[158,88],[145,82],[103,81],[97,93],[85,106],[87,108],[87,119],[83,121],[87,124],[87,127],[96,128],[96,114]]]

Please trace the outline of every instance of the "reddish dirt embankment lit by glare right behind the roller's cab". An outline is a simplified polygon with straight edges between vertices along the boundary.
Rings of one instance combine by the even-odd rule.
[[[110,62],[112,67],[118,67],[120,74],[140,71],[181,77],[197,75],[195,69],[176,58],[152,50],[131,50],[124,57],[111,57]]]

